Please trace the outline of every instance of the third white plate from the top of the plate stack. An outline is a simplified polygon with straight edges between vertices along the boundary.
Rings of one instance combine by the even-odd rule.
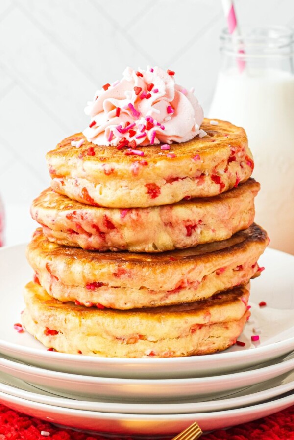
[[[150,403],[114,403],[94,402],[91,400],[74,400],[62,398],[55,394],[41,390],[25,381],[0,373],[0,392],[20,397],[32,402],[71,408],[73,410],[97,411],[102,413],[131,413],[131,414],[187,414],[207,413],[242,408],[254,403],[262,402],[294,390],[294,371],[277,377],[262,384],[248,386],[242,391],[231,392],[225,398],[207,400],[207,397],[185,403],[170,403],[170,401]],[[85,398],[83,398],[85,399]]]

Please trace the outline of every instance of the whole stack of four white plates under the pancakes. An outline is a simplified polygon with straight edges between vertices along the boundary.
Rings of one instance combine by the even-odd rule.
[[[195,420],[225,428],[294,404],[294,257],[268,249],[252,316],[234,346],[190,358],[94,358],[49,352],[14,323],[31,278],[25,246],[0,250],[0,402],[87,431],[171,435]],[[261,301],[267,306],[259,307]],[[251,342],[253,328],[260,341]],[[256,330],[256,329],[255,329]]]

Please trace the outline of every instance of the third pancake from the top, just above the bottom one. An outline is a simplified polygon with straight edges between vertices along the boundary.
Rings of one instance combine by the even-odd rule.
[[[49,242],[27,247],[38,281],[60,301],[132,309],[194,302],[258,275],[269,239],[253,224],[228,240],[159,254],[94,252]]]

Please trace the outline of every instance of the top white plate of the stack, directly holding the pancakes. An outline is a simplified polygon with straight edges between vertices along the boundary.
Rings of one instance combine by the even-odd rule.
[[[245,347],[235,345],[225,352],[188,358],[96,358],[48,352],[28,333],[19,334],[13,329],[13,324],[20,320],[24,307],[22,291],[32,277],[32,270],[25,261],[25,245],[3,247],[0,309],[5,313],[0,320],[0,353],[51,370],[129,378],[200,377],[277,358],[294,349],[294,256],[267,249],[260,265],[266,271],[252,281],[251,302],[266,301],[268,306],[252,307],[255,323],[247,324],[245,334],[239,338],[246,342]],[[260,344],[251,344],[253,325],[262,329]]]

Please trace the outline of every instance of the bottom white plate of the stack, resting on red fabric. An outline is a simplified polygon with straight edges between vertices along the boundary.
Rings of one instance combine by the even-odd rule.
[[[162,415],[79,411],[32,402],[3,392],[0,392],[0,402],[21,413],[76,429],[127,435],[172,435],[179,433],[195,420],[203,431],[208,431],[266,417],[292,405],[294,393],[237,410]]]

